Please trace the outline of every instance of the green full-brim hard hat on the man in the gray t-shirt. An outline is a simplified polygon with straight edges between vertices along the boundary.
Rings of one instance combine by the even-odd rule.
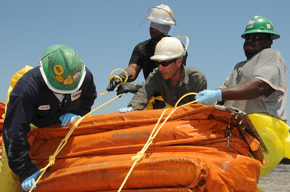
[[[273,40],[280,38],[280,35],[275,33],[271,21],[263,16],[254,16],[251,21],[248,22],[246,30],[241,37],[245,38],[245,34],[247,33],[270,33],[272,34]]]

